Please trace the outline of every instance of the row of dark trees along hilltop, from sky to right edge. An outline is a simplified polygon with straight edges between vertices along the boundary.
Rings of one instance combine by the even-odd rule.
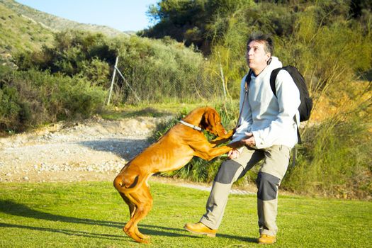
[[[148,16],[157,24],[140,34],[150,38],[170,36],[185,45],[196,45],[200,50],[210,52],[213,43],[225,35],[231,25],[239,26],[242,33],[249,26],[269,28],[271,33],[281,37],[292,34],[294,19],[298,14],[314,6],[321,6],[327,13],[323,21],[332,20],[335,15],[363,18],[371,11],[371,1],[291,1],[291,0],[162,0],[150,6]],[[242,21],[231,23],[244,14]],[[246,25],[248,24],[248,26]],[[245,26],[245,28],[244,28]]]

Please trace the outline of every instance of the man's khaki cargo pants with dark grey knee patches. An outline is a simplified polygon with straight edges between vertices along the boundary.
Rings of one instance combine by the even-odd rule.
[[[291,148],[283,145],[274,145],[262,150],[244,147],[237,159],[223,162],[213,181],[206,204],[206,213],[201,218],[201,222],[217,230],[222,221],[232,184],[252,169],[254,164],[264,159],[256,180],[259,232],[261,235],[276,236],[278,186],[286,174],[290,153]]]

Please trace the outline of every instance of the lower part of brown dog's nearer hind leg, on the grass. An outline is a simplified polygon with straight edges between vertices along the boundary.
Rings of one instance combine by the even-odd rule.
[[[146,217],[147,213],[150,212],[152,208],[152,196],[150,194],[149,188],[144,184],[138,191],[129,193],[128,199],[135,203],[136,209],[133,217],[130,221],[123,227],[123,231],[129,236],[135,239],[137,242],[147,243],[147,235],[143,235],[137,227],[138,222]]]

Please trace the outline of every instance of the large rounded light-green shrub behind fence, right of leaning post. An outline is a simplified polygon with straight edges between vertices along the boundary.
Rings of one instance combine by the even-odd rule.
[[[203,101],[218,94],[219,85],[205,73],[203,55],[181,43],[164,38],[130,37],[118,47],[122,94],[116,101],[157,103]],[[133,91],[128,87],[133,89]]]

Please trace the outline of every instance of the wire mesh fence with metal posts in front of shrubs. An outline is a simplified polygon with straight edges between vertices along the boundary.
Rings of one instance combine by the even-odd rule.
[[[120,69],[121,68],[121,69]],[[224,98],[220,74],[204,65],[151,71],[141,67],[117,67],[111,97],[115,103],[197,102]]]

